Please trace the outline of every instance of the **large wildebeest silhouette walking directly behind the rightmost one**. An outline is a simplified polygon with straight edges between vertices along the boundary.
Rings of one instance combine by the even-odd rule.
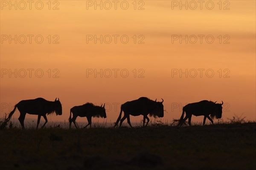
[[[122,111],[124,111],[124,116],[121,119]],[[151,99],[148,99],[147,97],[140,97],[137,100],[125,102],[124,104],[121,105],[121,111],[118,119],[116,120],[114,127],[116,127],[119,121],[120,121],[119,127],[121,127],[122,122],[126,118],[127,118],[128,124],[130,125],[130,127],[132,127],[130,122],[130,115],[132,116],[143,115],[143,126],[145,125],[145,119],[147,119],[147,123],[146,123],[146,126],[147,126],[149,122],[148,114],[149,116],[163,117],[163,101],[157,102],[157,99],[153,101]]]

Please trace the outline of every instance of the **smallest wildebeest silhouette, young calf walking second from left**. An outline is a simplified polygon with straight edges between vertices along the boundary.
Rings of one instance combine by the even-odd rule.
[[[73,118],[71,119],[71,113],[73,113]],[[75,127],[76,126],[76,118],[77,117],[86,117],[88,120],[88,125],[91,127],[92,123],[92,117],[104,117],[106,118],[106,110],[105,110],[105,104],[102,106],[95,106],[92,103],[86,103],[81,106],[74,106],[73,108],[70,109],[70,117],[69,117],[69,122],[70,122],[70,128],[72,122],[74,123]],[[84,126],[87,127],[88,125]]]

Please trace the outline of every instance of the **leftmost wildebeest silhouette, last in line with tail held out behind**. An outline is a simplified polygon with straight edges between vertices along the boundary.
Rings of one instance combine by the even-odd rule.
[[[20,111],[20,117],[18,118],[20,121],[20,125],[22,129],[24,129],[24,119],[26,116],[26,113],[28,114],[33,114],[33,115],[38,115],[38,121],[37,121],[37,126],[38,128],[41,116],[44,117],[45,123],[42,126],[42,128],[45,126],[45,124],[48,122],[46,114],[51,114],[51,113],[56,113],[56,115],[62,115],[62,106],[61,102],[57,98],[55,99],[54,102],[47,101],[46,99],[43,98],[37,98],[37,99],[29,99],[29,100],[21,100],[18,102],[13,111],[9,113],[9,116],[7,120],[9,121],[15,112],[16,108]]]

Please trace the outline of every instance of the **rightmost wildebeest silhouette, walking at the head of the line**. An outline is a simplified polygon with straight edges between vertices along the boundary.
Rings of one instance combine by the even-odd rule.
[[[205,124],[206,118],[208,118],[213,124],[212,119],[214,119],[214,117],[216,117],[217,119],[220,119],[222,116],[223,102],[221,101],[222,102],[221,104],[218,104],[216,102],[202,100],[201,102],[187,104],[182,109],[183,110],[182,115],[181,115],[179,123],[177,125],[182,126],[182,124],[186,121],[186,119],[189,119],[189,125],[191,126],[192,115],[204,116],[203,125]],[[183,119],[185,112],[186,112],[186,117]],[[211,117],[209,117],[209,115]]]

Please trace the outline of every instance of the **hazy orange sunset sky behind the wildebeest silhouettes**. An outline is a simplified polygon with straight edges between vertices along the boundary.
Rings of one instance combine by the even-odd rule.
[[[94,4],[90,6],[95,1],[86,0],[51,1],[51,6],[48,0],[42,0],[41,10],[37,9],[40,7],[37,1],[32,3],[31,9],[28,3],[25,8],[20,1],[16,2],[17,9],[9,6],[9,1],[0,0],[0,117],[9,113],[20,100],[43,97],[53,101],[58,97],[63,115],[48,116],[48,120],[67,121],[70,108],[92,102],[107,103],[107,122],[115,122],[122,103],[146,96],[153,100],[164,99],[166,112],[162,120],[165,122],[180,118],[186,103],[204,99],[225,103],[224,121],[232,119],[234,114],[256,120],[254,0],[221,3],[213,0],[211,10],[207,1],[202,9],[198,3],[195,10],[191,1],[187,1],[186,10],[176,3],[180,1],[171,0],[119,1],[116,9],[111,3],[109,10],[105,1],[102,1],[102,10],[99,6],[94,9]],[[129,6],[125,10],[126,2]],[[36,8],[35,3],[39,7]],[[23,7],[25,9],[21,9]],[[9,35],[14,39],[17,35],[17,44],[15,40],[9,41]],[[33,36],[31,43],[28,35]],[[41,44],[38,43],[40,37],[38,42],[35,40],[38,35],[44,38]],[[110,35],[112,41],[106,43],[109,42],[107,36],[102,44],[100,40],[94,43],[88,35],[98,38]],[[116,43],[113,35],[118,36]],[[188,38],[187,44],[186,40],[180,43],[179,39],[174,40],[175,35],[178,38],[187,35],[191,39]],[[203,35],[202,43],[198,35]],[[121,36],[128,37],[129,41],[122,43]],[[211,37],[214,41],[207,42],[207,36],[209,41]],[[144,43],[138,43],[140,40]],[[9,75],[9,71],[15,72],[15,69],[17,77]],[[34,69],[31,77],[27,69]],[[38,69],[44,73],[41,78],[41,72],[35,74]],[[88,75],[88,69],[98,72],[102,69],[102,77]],[[112,71],[110,77],[108,69]],[[119,69],[116,77],[113,69]],[[128,71],[126,78],[126,72],[121,75],[123,69]],[[173,71],[185,72],[186,69],[187,77],[173,74]],[[198,69],[204,69],[201,77]],[[17,118],[19,112],[14,116]],[[27,114],[26,118],[36,119],[37,116]],[[132,122],[141,119],[143,116],[131,117]],[[77,121],[87,122],[85,118]],[[102,121],[99,118],[99,122]],[[192,122],[202,121],[203,117],[192,118]]]

